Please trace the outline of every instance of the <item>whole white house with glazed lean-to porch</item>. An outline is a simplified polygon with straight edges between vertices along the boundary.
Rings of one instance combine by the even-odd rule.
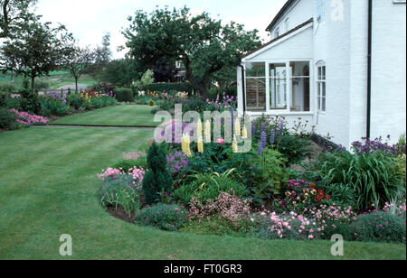
[[[301,117],[350,146],[406,129],[406,1],[289,0],[237,70],[241,114]]]

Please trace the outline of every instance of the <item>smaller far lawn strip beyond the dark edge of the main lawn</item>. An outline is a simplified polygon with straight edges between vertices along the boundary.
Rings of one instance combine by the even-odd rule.
[[[153,107],[122,105],[93,110],[84,114],[65,116],[51,123],[51,125],[98,125],[98,126],[150,126],[156,127],[160,123],[154,122]]]

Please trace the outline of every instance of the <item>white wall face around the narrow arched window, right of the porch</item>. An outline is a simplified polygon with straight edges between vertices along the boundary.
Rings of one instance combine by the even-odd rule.
[[[315,3],[316,18],[317,1],[312,2]],[[314,24],[314,61],[317,64],[324,60],[327,66],[327,111],[317,113],[317,134],[329,134],[333,142],[347,147],[350,141],[350,2],[344,1],[342,21],[332,20],[329,1],[326,11],[326,20]],[[314,67],[317,71],[316,65]],[[317,107],[317,92],[315,96]]]

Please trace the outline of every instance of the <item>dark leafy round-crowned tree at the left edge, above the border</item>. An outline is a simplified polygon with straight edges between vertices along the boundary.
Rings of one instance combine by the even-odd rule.
[[[30,78],[34,88],[35,78],[58,70],[67,54],[65,42],[69,40],[71,33],[66,32],[63,25],[51,27],[51,23],[37,20],[25,23],[19,35],[7,40],[0,48],[0,67],[4,72],[14,70],[24,78]]]

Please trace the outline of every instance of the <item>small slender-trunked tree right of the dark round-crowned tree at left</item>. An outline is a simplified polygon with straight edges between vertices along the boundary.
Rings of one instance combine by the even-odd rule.
[[[80,47],[75,43],[67,46],[67,54],[64,56],[63,64],[75,79],[75,92],[78,93],[78,79],[90,68],[95,59],[95,52],[90,47]]]

